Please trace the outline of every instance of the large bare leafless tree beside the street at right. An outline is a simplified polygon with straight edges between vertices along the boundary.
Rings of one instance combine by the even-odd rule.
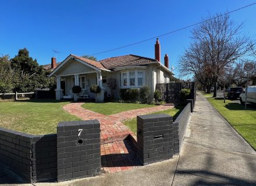
[[[229,15],[209,16],[192,31],[193,42],[179,59],[182,76],[193,73],[200,83],[211,88],[223,73],[232,68],[236,60],[251,55],[253,42],[240,35],[243,24],[236,25]]]

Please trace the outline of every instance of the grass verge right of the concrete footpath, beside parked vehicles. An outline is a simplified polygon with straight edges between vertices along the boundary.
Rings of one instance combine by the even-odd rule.
[[[207,98],[223,117],[256,149],[256,110],[226,99]]]

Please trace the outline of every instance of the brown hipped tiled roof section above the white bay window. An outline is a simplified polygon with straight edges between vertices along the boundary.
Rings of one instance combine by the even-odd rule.
[[[100,60],[99,62],[106,69],[113,69],[115,67],[120,67],[120,66],[145,65],[148,63],[158,62],[158,60],[130,54],[125,56],[118,56],[118,57]]]

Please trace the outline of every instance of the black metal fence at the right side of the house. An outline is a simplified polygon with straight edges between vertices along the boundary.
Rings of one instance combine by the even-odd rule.
[[[180,90],[189,89],[190,95],[187,99],[193,99],[195,102],[195,83],[159,83],[156,85],[156,89],[162,93],[162,100],[166,103],[179,103],[180,102]]]

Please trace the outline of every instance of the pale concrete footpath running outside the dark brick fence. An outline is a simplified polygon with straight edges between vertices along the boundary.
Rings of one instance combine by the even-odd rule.
[[[256,152],[198,94],[179,156],[120,173],[33,185],[256,185]]]

